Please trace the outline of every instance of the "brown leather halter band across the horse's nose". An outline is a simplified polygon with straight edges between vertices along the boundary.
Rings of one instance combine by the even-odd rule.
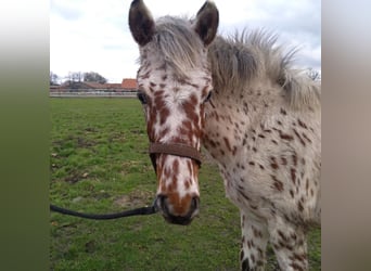
[[[195,147],[186,144],[151,142],[149,153],[155,172],[157,172],[156,154],[188,157],[194,159],[199,164],[199,167],[201,167],[201,153]]]

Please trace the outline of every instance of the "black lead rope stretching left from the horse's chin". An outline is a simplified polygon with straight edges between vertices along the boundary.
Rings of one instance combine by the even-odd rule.
[[[65,209],[59,206],[55,206],[53,204],[50,205],[51,211],[56,211],[63,215],[79,217],[79,218],[87,218],[87,219],[95,219],[95,220],[107,220],[107,219],[117,219],[117,218],[125,218],[125,217],[131,217],[131,216],[144,216],[144,215],[153,215],[158,211],[158,209],[155,206],[155,203],[153,203],[152,206],[149,207],[141,207],[132,210],[126,210],[115,214],[105,214],[105,215],[99,215],[99,214],[85,214],[85,212],[78,212],[75,210]]]

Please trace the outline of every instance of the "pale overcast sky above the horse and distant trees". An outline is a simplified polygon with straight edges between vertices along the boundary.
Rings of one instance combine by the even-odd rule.
[[[215,0],[219,34],[266,28],[279,43],[298,47],[299,67],[321,69],[320,0]],[[139,51],[128,27],[130,0],[51,0],[50,70],[97,72],[108,82],[135,78]],[[194,16],[204,0],[145,0],[156,18]]]

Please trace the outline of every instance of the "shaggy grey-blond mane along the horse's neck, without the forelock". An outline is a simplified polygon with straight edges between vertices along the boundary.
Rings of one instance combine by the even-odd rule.
[[[284,53],[277,38],[265,30],[217,37],[208,53],[214,87],[244,91],[258,80],[270,79],[286,91],[291,106],[319,106],[320,83],[292,67],[296,50]]]

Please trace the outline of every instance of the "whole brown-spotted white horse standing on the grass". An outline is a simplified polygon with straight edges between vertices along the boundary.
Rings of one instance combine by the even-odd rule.
[[[320,83],[277,36],[221,37],[218,24],[212,1],[193,18],[156,21],[142,0],[130,5],[156,208],[176,224],[199,214],[203,146],[241,212],[241,269],[264,270],[270,242],[281,270],[307,270],[306,234],[321,214]]]

